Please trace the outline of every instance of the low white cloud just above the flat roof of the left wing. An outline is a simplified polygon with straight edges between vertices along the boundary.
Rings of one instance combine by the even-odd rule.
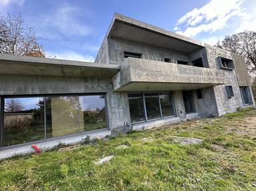
[[[92,55],[82,55],[74,51],[63,51],[61,53],[46,52],[46,55],[51,58],[70,60],[70,61],[84,61],[84,62],[94,61],[94,57],[92,57]]]

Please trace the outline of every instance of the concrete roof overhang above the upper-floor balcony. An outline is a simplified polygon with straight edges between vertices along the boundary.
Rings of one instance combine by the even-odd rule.
[[[146,43],[155,47],[173,49],[183,53],[190,53],[191,51],[205,47],[203,43],[195,39],[166,31],[118,13],[115,13],[112,19],[107,37],[119,37],[129,41]]]

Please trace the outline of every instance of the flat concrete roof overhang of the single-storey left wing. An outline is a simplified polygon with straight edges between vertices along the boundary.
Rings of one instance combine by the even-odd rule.
[[[0,54],[0,74],[64,77],[113,77],[119,65]]]

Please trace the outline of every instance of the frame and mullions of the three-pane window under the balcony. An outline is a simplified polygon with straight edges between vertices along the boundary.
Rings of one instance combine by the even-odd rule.
[[[159,119],[170,118],[170,117],[176,116],[176,107],[175,107],[174,96],[173,96],[173,92],[172,92],[172,91],[130,92],[130,93],[128,93],[128,97],[129,97],[129,94],[134,94],[134,93],[142,93],[145,120],[143,120],[143,121],[138,121],[138,122],[131,122],[131,124],[139,124],[139,123],[142,123],[142,122],[149,122],[149,121],[152,121],[152,120],[159,120]],[[145,93],[157,93],[157,96],[158,96],[158,104],[159,104],[159,106],[160,106],[160,118],[148,119],[148,116],[147,116],[147,113],[146,113],[145,96],[144,96]],[[159,93],[169,93],[169,94],[170,94],[171,102],[172,102],[172,107],[173,107],[173,111],[174,111],[174,114],[173,114],[173,115],[170,115],[170,116],[163,116],[163,115],[162,115],[162,108],[161,108],[161,102],[160,102]],[[130,112],[130,111],[129,111],[129,112]]]

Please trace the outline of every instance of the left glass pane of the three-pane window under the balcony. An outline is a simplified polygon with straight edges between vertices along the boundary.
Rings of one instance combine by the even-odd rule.
[[[129,94],[130,118],[132,122],[140,122],[145,120],[144,104],[142,93]]]

